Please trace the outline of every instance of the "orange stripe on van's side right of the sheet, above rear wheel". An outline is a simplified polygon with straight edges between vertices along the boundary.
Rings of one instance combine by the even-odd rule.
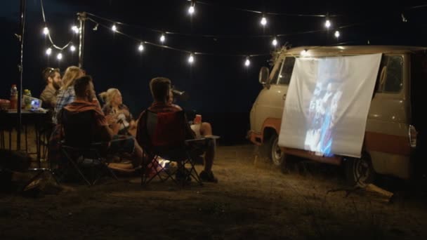
[[[370,151],[390,154],[409,155],[411,153],[408,137],[385,133],[365,132],[364,146]]]

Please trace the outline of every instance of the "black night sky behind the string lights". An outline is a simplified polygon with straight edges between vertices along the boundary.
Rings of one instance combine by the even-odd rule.
[[[258,83],[258,71],[268,66],[268,53],[272,35],[289,34],[277,38],[280,44],[306,45],[411,45],[426,46],[425,19],[427,7],[422,1],[402,1],[391,4],[384,1],[213,1],[196,3],[196,13],[187,13],[189,1],[185,0],[44,0],[46,22],[57,46],[72,39],[71,26],[77,23],[77,12],[86,11],[103,18],[124,22],[117,25],[119,31],[144,41],[159,44],[159,33],[150,29],[180,32],[192,36],[166,35],[164,45],[186,51],[212,53],[195,55],[195,63],[188,64],[188,53],[145,45],[145,51],[137,51],[138,41],[113,34],[101,26],[93,31],[95,24],[86,22],[84,46],[84,69],[93,76],[97,93],[107,88],[119,88],[124,103],[133,115],[150,105],[151,95],[148,82],[155,76],[166,76],[173,85],[190,94],[187,102],[178,102],[185,109],[194,109],[202,114],[204,121],[213,124],[213,131],[221,135],[223,144],[244,141],[249,130],[249,111],[262,86]],[[89,4],[90,2],[90,4]],[[0,19],[2,46],[2,80],[0,98],[8,98],[11,84],[18,83],[19,47],[14,33],[18,33],[20,1],[1,1]],[[288,15],[266,15],[267,27],[261,27],[261,14],[238,11],[244,8],[269,13],[296,13],[338,15],[331,17],[331,29],[310,34],[295,34],[324,29],[324,18],[296,17]],[[402,15],[407,22],[402,22]],[[96,19],[96,18],[95,18]],[[100,20],[103,24],[109,22]],[[337,41],[334,27],[353,25],[339,29]],[[138,27],[140,26],[140,27]],[[44,22],[40,0],[27,0],[25,25],[23,88],[39,97],[44,88],[41,71],[45,67],[78,65],[77,52],[63,51],[64,58],[58,62],[55,55],[50,58],[44,53],[48,41],[42,29]],[[221,35],[202,37],[204,35]],[[260,35],[271,35],[262,37]],[[77,46],[77,37],[73,39]],[[55,52],[58,53],[58,52]],[[267,54],[251,58],[249,68],[244,67],[244,55]],[[241,55],[241,56],[230,56]]]

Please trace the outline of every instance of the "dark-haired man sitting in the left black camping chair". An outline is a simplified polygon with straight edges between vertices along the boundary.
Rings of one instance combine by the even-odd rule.
[[[143,159],[143,149],[138,145],[135,138],[123,135],[117,135],[120,125],[116,122],[109,126],[104,113],[100,109],[98,101],[94,100],[95,91],[91,76],[81,76],[74,83],[74,92],[76,98],[74,102],[65,106],[58,116],[58,120],[63,122],[67,118],[67,114],[79,114],[85,111],[93,111],[95,113],[92,118],[94,126],[93,135],[96,142],[107,142],[107,151],[111,153],[127,152],[132,154],[132,164],[109,164],[108,167],[117,171],[126,171],[131,168],[140,166]]]

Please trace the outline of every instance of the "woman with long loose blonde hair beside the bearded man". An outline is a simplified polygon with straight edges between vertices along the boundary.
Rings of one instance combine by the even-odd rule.
[[[55,109],[53,109],[52,121],[54,124],[58,124],[57,115],[60,109],[63,109],[65,105],[73,102],[74,98],[76,98],[74,82],[81,76],[84,76],[84,72],[79,67],[70,66],[65,70],[63,86],[59,89]]]

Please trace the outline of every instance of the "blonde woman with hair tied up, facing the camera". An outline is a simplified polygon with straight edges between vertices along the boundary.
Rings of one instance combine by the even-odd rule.
[[[105,102],[103,112],[110,123],[120,124],[119,135],[135,135],[136,124],[129,107],[123,104],[121,93],[117,88],[110,88],[100,93],[99,97]]]

